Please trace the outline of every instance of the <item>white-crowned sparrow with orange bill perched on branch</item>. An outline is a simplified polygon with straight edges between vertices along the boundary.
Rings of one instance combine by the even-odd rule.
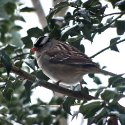
[[[32,51],[38,66],[50,79],[65,84],[80,82],[83,75],[102,73],[115,76],[114,73],[102,70],[84,53],[64,42],[42,36],[37,39]]]

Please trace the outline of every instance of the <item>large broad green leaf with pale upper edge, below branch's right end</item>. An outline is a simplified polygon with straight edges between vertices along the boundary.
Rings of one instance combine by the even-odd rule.
[[[85,103],[80,106],[80,113],[83,114],[85,118],[91,118],[94,117],[94,115],[102,108],[102,102],[100,101],[94,101]]]

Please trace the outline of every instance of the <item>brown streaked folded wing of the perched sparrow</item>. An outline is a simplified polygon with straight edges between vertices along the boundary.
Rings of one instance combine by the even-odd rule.
[[[61,43],[63,44],[63,43]],[[68,46],[68,47],[66,47]],[[98,67],[98,65],[86,56],[84,53],[80,52],[75,47],[63,44],[62,46],[55,46],[52,50],[48,51],[46,54],[50,56],[49,61],[54,64],[65,64],[77,67]]]

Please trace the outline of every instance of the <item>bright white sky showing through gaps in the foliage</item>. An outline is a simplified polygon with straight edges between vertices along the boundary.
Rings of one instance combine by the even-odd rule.
[[[22,0],[26,6],[32,6],[31,1],[30,0]],[[46,14],[49,13],[49,8],[51,7],[51,0],[41,0],[42,1],[42,5],[43,8],[45,9]],[[105,2],[103,2],[105,4]],[[108,5],[111,8],[111,5]],[[112,13],[111,9],[107,10],[107,13]],[[118,12],[118,10],[116,10]],[[22,30],[22,36],[26,35],[26,30],[32,27],[40,27],[41,25],[39,24],[38,18],[37,16],[33,13],[23,13],[24,19],[26,20],[26,23],[22,23],[24,29]],[[84,45],[85,45],[85,53],[88,56],[92,56],[95,53],[97,53],[98,51],[102,50],[103,48],[109,46],[109,41],[111,38],[117,37],[116,34],[116,29],[109,29],[106,30],[104,33],[102,33],[101,35],[99,34],[98,36],[96,36],[94,38],[94,42],[91,44],[90,42],[88,42],[87,40],[83,41]],[[117,74],[121,74],[121,73],[125,73],[125,42],[120,43],[117,45],[118,49],[120,50],[120,52],[114,52],[114,51],[110,51],[107,50],[103,53],[101,53],[100,55],[96,56],[93,60],[95,62],[99,62],[99,64],[103,67],[103,66],[107,66],[106,70],[110,71],[110,72],[114,72]],[[107,76],[104,75],[100,75],[101,76],[101,80],[105,81],[105,84],[107,84]],[[85,79],[87,80],[88,83],[90,83],[88,85],[89,88],[96,87],[96,85],[92,82],[92,80],[87,77],[85,77]],[[41,94],[38,94],[38,93]],[[45,96],[44,96],[45,95]],[[48,95],[48,96],[47,96]],[[48,100],[50,100],[52,98],[53,92],[43,88],[43,87],[38,87],[36,89],[34,89],[34,94],[31,98],[32,103],[35,103],[36,98],[41,98],[43,101],[48,102]],[[77,119],[77,125],[78,125],[78,119]],[[73,120],[69,125],[75,125],[76,122]]]

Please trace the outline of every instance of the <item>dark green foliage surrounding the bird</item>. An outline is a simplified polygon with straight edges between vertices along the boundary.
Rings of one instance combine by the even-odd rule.
[[[113,17],[115,13],[106,15],[107,6],[102,6],[99,0],[87,0],[86,2],[76,0],[75,2],[59,3],[47,16],[48,25],[44,29],[33,27],[27,31],[27,36],[21,38],[19,31],[23,27],[16,21],[25,22],[25,19],[16,14],[16,10],[22,4],[16,0],[0,1],[0,124],[12,125],[17,122],[24,125],[59,125],[59,119],[61,117],[67,118],[67,113],[71,114],[70,107],[78,104],[80,105],[79,113],[88,119],[88,125],[92,123],[113,125],[113,121],[116,125],[118,121],[122,125],[125,124],[125,110],[118,103],[124,97],[125,91],[125,79],[121,76],[109,78],[108,86],[94,90],[98,100],[86,101],[83,99],[80,101],[71,97],[53,97],[48,104],[41,100],[38,100],[37,104],[31,104],[32,83],[10,73],[12,65],[16,65],[31,74],[35,74],[38,78],[48,80],[37,69],[36,61],[30,52],[31,38],[38,38],[44,34],[67,41],[84,52],[85,46],[81,44],[82,39],[87,39],[88,42],[94,44],[93,39],[97,34],[113,27],[116,28],[118,36],[110,40],[108,48],[119,52],[117,44],[125,41],[120,41],[125,32],[125,21],[121,19],[124,15],[125,1],[110,2],[114,8],[117,6],[120,8],[121,11],[116,14],[117,16]],[[63,20],[54,18],[54,15],[65,7],[72,7],[74,10],[72,13],[67,12]],[[28,7],[20,9],[22,13],[32,11],[35,10]],[[104,18],[107,18],[105,23],[102,22]],[[94,74],[89,76],[96,84],[103,84],[103,81]],[[87,91],[91,93],[90,88],[87,88]],[[60,105],[60,107],[52,108],[49,105]]]

